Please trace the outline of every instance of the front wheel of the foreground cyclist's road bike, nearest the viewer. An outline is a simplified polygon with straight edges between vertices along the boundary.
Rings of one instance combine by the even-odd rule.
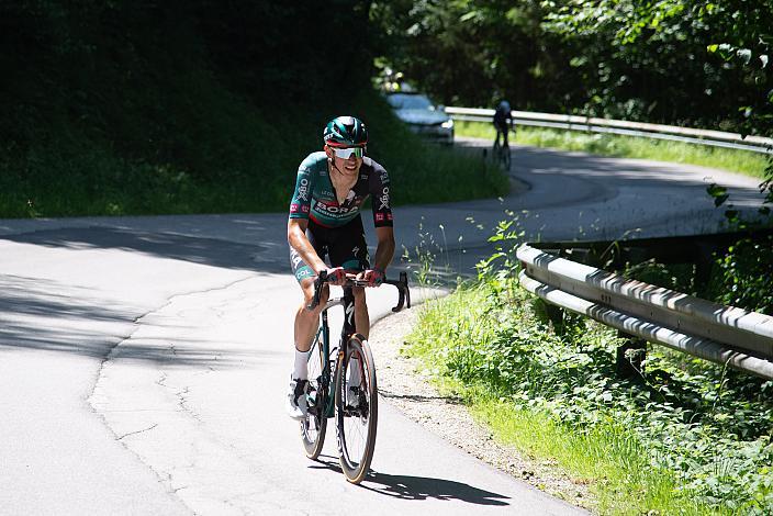
[[[368,341],[354,335],[336,368],[336,433],[346,480],[358,484],[368,474],[379,418],[376,367]],[[350,388],[355,388],[354,391]]]

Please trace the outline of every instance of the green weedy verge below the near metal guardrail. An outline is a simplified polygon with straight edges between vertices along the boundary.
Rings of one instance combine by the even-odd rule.
[[[587,483],[601,514],[770,514],[773,382],[650,346],[620,379],[620,339],[547,317],[512,276],[428,303],[405,352],[497,439]]]

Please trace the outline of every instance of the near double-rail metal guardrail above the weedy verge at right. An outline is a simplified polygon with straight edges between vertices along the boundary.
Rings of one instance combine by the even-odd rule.
[[[524,245],[520,284],[626,334],[773,380],[773,317],[628,280]]]

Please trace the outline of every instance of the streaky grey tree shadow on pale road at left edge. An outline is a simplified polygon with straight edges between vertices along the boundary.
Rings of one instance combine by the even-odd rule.
[[[155,321],[156,334],[150,341],[126,340],[138,328],[137,315],[146,310],[130,301],[105,301],[98,291],[86,287],[0,274],[0,351],[29,348],[104,357],[123,343],[122,359],[177,366],[201,367],[216,360],[217,367],[238,367],[245,360],[273,359],[270,351],[245,354],[238,343],[228,340],[213,346],[197,337],[195,332],[177,335],[177,328],[190,326],[182,326],[175,318]],[[164,336],[165,332],[171,335]]]

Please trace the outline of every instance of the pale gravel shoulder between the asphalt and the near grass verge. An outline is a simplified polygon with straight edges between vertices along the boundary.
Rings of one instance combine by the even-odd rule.
[[[590,511],[595,503],[587,485],[572,480],[550,461],[535,460],[513,447],[496,442],[490,429],[478,423],[460,400],[442,396],[422,373],[418,360],[400,352],[416,324],[421,306],[377,322],[369,340],[378,368],[382,400],[466,452],[514,479]]]

